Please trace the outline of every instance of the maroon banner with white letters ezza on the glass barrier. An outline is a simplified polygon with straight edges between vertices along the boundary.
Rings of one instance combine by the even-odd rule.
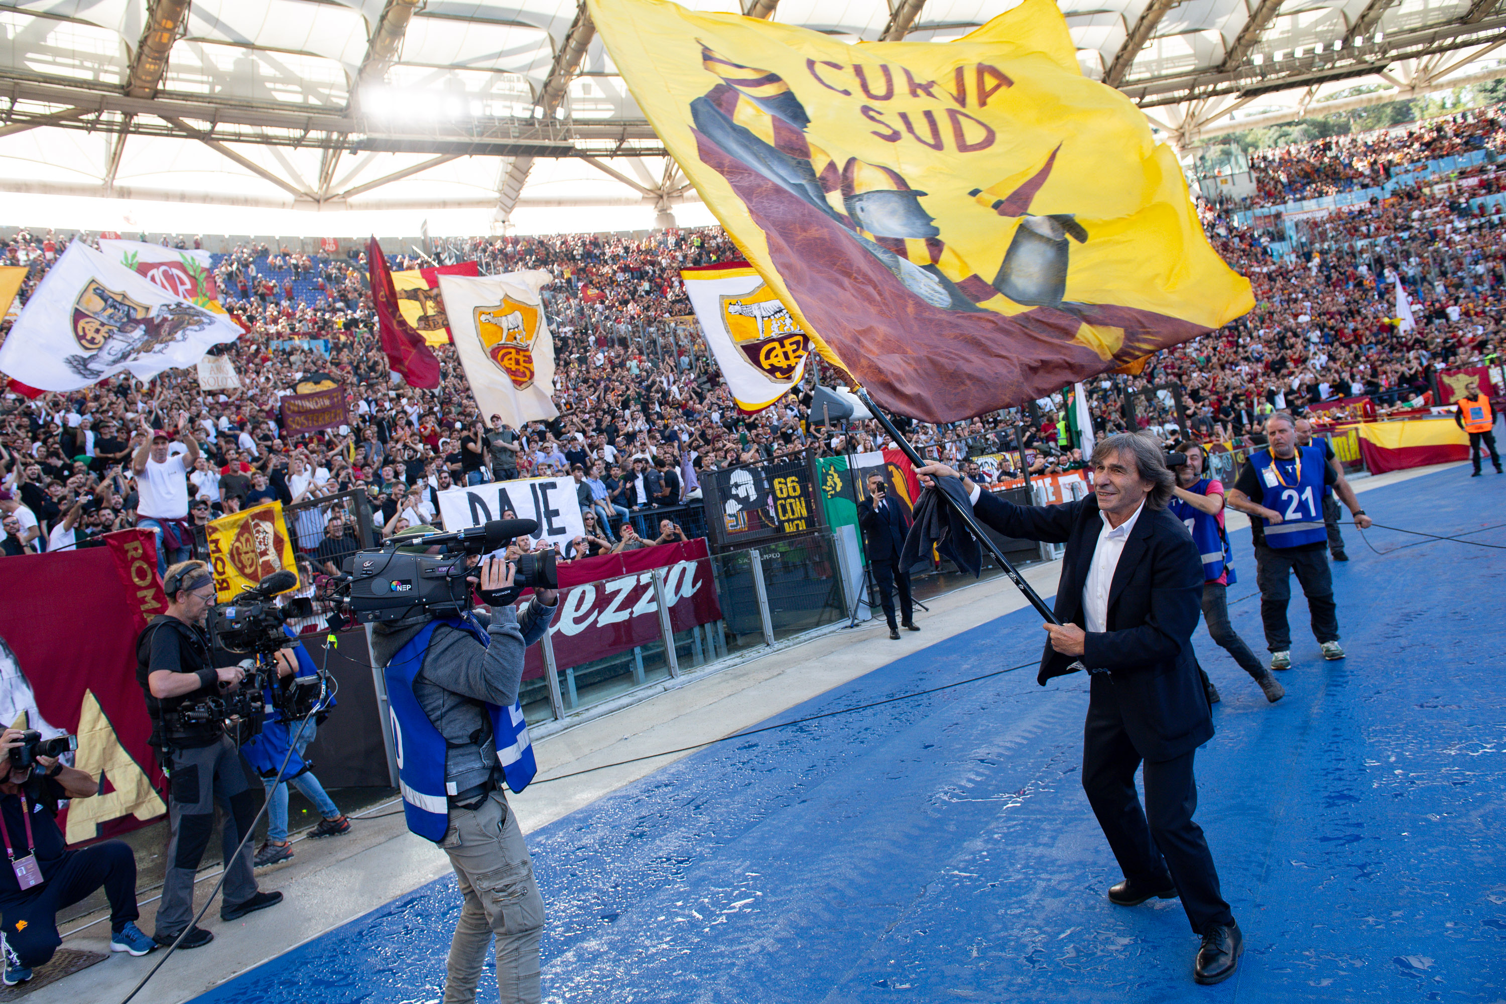
[[[664,604],[675,631],[721,620],[717,583],[711,560],[702,557],[664,567]],[[560,668],[583,665],[634,646],[661,638],[658,601],[654,596],[654,570],[623,575],[601,583],[586,583],[560,590],[559,613],[550,628],[554,662]],[[544,653],[530,646],[523,664],[523,679],[544,676]]]

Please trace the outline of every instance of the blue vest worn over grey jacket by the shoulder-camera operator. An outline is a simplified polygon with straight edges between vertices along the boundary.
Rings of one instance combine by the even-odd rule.
[[[438,617],[423,626],[402,646],[383,670],[387,680],[387,704],[392,710],[393,744],[398,748],[398,777],[402,789],[402,810],[408,829],[425,840],[438,843],[450,826],[449,790],[444,781],[444,736],[423,713],[413,680],[423,668],[423,656],[429,650],[429,638],[437,625],[446,625],[468,632],[482,647],[491,644],[491,635],[471,617]],[[529,741],[529,726],[523,720],[523,704],[512,707],[486,704],[491,718],[492,745],[501,763],[508,787],[523,792],[538,774],[533,759],[533,744]]]

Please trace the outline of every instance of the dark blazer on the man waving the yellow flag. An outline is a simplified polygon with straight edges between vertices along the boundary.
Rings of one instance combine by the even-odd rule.
[[[1012,506],[983,492],[974,513],[1005,536],[1066,545],[1054,613],[1062,623],[1086,628],[1083,583],[1104,528],[1098,500]],[[1179,757],[1214,735],[1191,643],[1202,593],[1202,558],[1187,527],[1164,509],[1142,510],[1114,567],[1108,629],[1087,634],[1081,661],[1108,670],[1092,674],[1093,710],[1117,712],[1136,751],[1151,762]],[[1071,673],[1072,661],[1048,641],[1036,679],[1044,686]]]

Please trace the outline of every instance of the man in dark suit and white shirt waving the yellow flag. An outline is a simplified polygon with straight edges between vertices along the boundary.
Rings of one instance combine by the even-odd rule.
[[[1149,438],[1120,434],[1093,450],[1093,495],[1060,506],[1012,506],[964,479],[977,518],[1011,537],[1066,543],[1056,617],[1036,680],[1086,667],[1083,789],[1123,870],[1110,902],[1139,906],[1181,896],[1202,935],[1199,983],[1229,978],[1244,948],[1218,873],[1193,822],[1193,754],[1214,735],[1191,634],[1202,558],[1166,509],[1176,479]],[[950,467],[920,468],[955,476]],[[1081,665],[1078,665],[1081,664]],[[1134,787],[1145,763],[1145,808]]]

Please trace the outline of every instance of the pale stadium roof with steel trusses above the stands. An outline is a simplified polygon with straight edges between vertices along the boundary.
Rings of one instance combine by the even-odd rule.
[[[741,2],[851,41],[1014,3]],[[1473,80],[1506,42],[1503,0],[1059,2],[1083,71],[1184,146],[1355,83]],[[0,0],[0,190],[498,218],[694,199],[575,0]]]

